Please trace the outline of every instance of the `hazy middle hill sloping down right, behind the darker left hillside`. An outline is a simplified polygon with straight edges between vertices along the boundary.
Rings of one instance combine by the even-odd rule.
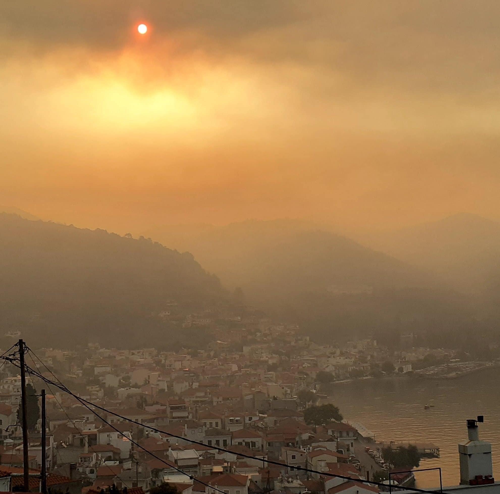
[[[433,332],[469,317],[467,301],[432,276],[304,221],[245,221],[179,235],[148,233],[188,249],[247,300],[297,321],[310,334]],[[441,331],[444,334],[444,331]]]

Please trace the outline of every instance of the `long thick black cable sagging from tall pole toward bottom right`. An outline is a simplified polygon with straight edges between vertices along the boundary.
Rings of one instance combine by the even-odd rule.
[[[5,358],[5,357],[3,357]],[[14,363],[12,362],[14,365],[16,365],[17,367],[19,367],[19,364],[18,363]],[[25,364],[26,365],[26,364]],[[110,410],[107,410],[106,408],[102,407],[102,406],[99,406],[95,403],[92,403],[84,398],[81,398],[79,396],[76,396],[72,391],[70,391],[64,384],[62,384],[58,379],[57,377],[55,377],[55,379],[57,379],[58,383],[54,382],[54,381],[51,381],[50,379],[47,379],[45,378],[44,376],[41,376],[40,374],[37,374],[36,371],[34,371],[33,369],[31,369],[30,367],[28,367],[26,365],[26,370],[28,372],[35,372],[36,375],[38,375],[38,377],[40,377],[40,379],[43,379],[45,380],[45,382],[49,381],[50,383],[52,383],[53,385],[55,385],[56,387],[58,387],[59,389],[61,389],[62,391],[70,394],[71,396],[73,396],[74,398],[76,398],[78,401],[80,401],[84,406],[86,406],[89,410],[91,410],[93,413],[95,413],[97,415],[97,413],[92,410],[89,406],[87,406],[85,403],[87,403],[88,405],[91,405],[99,410],[102,410],[106,413],[110,413],[111,415],[114,415],[118,418],[121,418],[122,420],[126,420],[128,422],[131,422],[131,423],[134,423],[138,426],[141,426],[141,427],[146,427],[148,429],[151,429],[155,432],[159,432],[161,434],[165,434],[165,435],[168,435],[170,437],[174,437],[174,438],[177,438],[177,439],[181,439],[183,441],[186,441],[186,442],[190,442],[190,443],[193,443],[193,444],[197,444],[197,445],[201,445],[201,446],[206,446],[206,444],[203,444],[202,442],[200,441],[196,441],[194,439],[189,439],[187,437],[183,437],[183,436],[179,436],[179,435],[176,435],[176,434],[172,434],[170,432],[166,432],[164,430],[160,430],[160,429],[157,429],[156,427],[153,427],[151,425],[146,425],[146,424],[142,424],[140,422],[137,422],[136,420],[133,420],[131,418],[127,418],[123,415],[120,415],[119,413],[116,413],[116,412],[112,412]],[[53,375],[53,373],[52,373]],[[98,416],[98,415],[97,415]],[[109,424],[111,427],[113,427],[111,424]],[[114,427],[113,427],[114,428]],[[119,432],[119,431],[118,431]],[[145,451],[147,451],[145,448],[143,448],[142,446],[139,445],[139,447],[141,447],[142,449],[144,449]],[[342,478],[344,480],[350,480],[350,481],[354,481],[354,482],[361,482],[361,483],[369,483],[369,484],[372,484],[372,485],[377,485],[377,486],[381,486],[381,487],[387,487],[386,484],[382,483],[382,482],[375,482],[375,481],[372,481],[372,480],[366,480],[366,479],[360,479],[360,478],[354,478],[354,477],[350,477],[350,476],[347,476],[347,475],[340,475],[340,474],[335,474],[335,473],[329,473],[329,472],[323,472],[323,471],[320,471],[320,470],[314,470],[312,468],[304,468],[304,467],[301,467],[301,466],[292,466],[292,465],[288,465],[286,463],[282,463],[282,462],[279,462],[279,461],[274,461],[274,460],[269,460],[269,459],[266,459],[266,460],[262,460],[262,458],[258,458],[256,456],[252,456],[252,455],[249,455],[249,454],[245,454],[245,453],[241,453],[241,452],[238,452],[238,453],[235,453],[234,451],[231,451],[230,449],[225,449],[225,448],[222,448],[220,446],[210,446],[211,449],[216,449],[218,451],[222,451],[222,452],[227,452],[227,453],[231,453],[231,454],[237,454],[239,456],[242,456],[244,458],[248,458],[248,459],[256,459],[258,461],[265,461],[267,464],[271,464],[271,465],[277,465],[277,466],[284,466],[286,468],[289,468],[290,470],[298,470],[298,471],[305,471],[305,472],[309,472],[309,473],[316,473],[316,474],[319,474],[319,475],[323,475],[323,476],[330,476],[330,477],[337,477],[337,478]],[[147,451],[149,452],[149,451]],[[152,455],[152,453],[150,453]],[[161,458],[158,458],[161,460]],[[210,488],[213,488],[212,486],[209,486]],[[423,493],[427,493],[427,494],[441,494],[441,492],[439,490],[427,490],[427,489],[419,489],[417,487],[405,487],[405,490],[409,490],[409,491],[412,491],[412,492],[423,492]]]

